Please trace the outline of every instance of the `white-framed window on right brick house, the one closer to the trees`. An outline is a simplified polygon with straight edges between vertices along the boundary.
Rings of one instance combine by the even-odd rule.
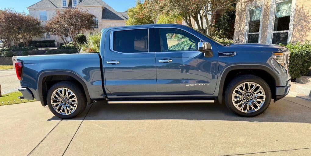
[[[249,11],[247,43],[258,43],[259,41],[261,13],[261,7],[253,8]]]

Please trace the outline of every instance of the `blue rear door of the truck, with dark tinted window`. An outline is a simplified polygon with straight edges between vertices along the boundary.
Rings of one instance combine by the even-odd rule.
[[[108,98],[156,95],[153,29],[113,29],[106,36],[110,36],[103,60]]]

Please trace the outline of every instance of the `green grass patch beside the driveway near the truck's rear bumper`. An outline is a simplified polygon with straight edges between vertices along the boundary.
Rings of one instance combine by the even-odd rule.
[[[9,103],[7,101],[10,102],[10,104],[15,104],[15,103],[26,103],[26,102],[32,102],[32,101],[35,101],[35,100],[22,100],[21,99],[18,99],[17,97],[18,96],[22,96],[21,92],[12,92],[12,93],[9,93],[9,94],[4,94],[2,95],[2,97],[0,97],[0,106],[2,105],[8,105]],[[14,100],[15,100],[15,103],[14,103]],[[3,104],[2,104],[3,102]]]

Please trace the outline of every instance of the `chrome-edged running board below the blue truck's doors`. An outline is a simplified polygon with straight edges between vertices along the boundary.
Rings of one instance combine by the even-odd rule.
[[[123,103],[215,103],[215,100],[108,101],[108,104]]]

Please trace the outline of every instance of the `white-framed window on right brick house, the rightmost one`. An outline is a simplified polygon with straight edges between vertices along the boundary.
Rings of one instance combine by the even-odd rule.
[[[287,44],[292,0],[276,3],[272,44]]]

